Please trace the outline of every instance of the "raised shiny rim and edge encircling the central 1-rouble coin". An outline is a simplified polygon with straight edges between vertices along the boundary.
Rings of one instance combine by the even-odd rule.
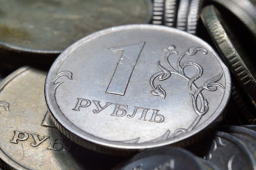
[[[184,36],[198,43],[198,45],[202,45],[203,47],[205,47],[209,51],[209,53],[211,53],[216,58],[216,60],[218,61],[218,63],[220,64],[224,72],[224,76],[226,80],[226,84],[225,84],[226,90],[223,94],[222,102],[215,110],[215,112],[217,112],[218,114],[213,114],[209,117],[209,119],[207,119],[207,120],[211,120],[210,123],[202,123],[193,131],[188,132],[188,135],[174,138],[174,140],[171,140],[171,141],[155,142],[150,144],[141,143],[140,145],[133,146],[130,143],[119,143],[119,142],[107,141],[105,139],[101,139],[97,136],[93,136],[91,134],[83,132],[81,129],[77,128],[64,116],[64,114],[58,108],[58,105],[54,98],[55,89],[51,88],[52,86],[51,84],[49,85],[49,83],[54,83],[58,69],[62,65],[63,61],[66,60],[66,58],[69,57],[70,54],[72,54],[76,49],[78,49],[83,44],[91,40],[97,39],[98,37],[106,34],[112,34],[113,32],[116,32],[116,31],[133,30],[133,29],[166,31],[169,34]],[[146,148],[154,148],[154,147],[170,145],[170,144],[185,146],[185,145],[188,145],[189,143],[194,143],[195,141],[198,141],[199,139],[202,138],[202,136],[207,134],[207,130],[208,131],[211,130],[218,123],[220,123],[222,119],[222,112],[224,112],[224,109],[227,105],[227,101],[229,100],[229,96],[231,94],[230,74],[229,74],[228,68],[222,62],[221,58],[218,58],[217,56],[218,54],[213,50],[213,48],[209,44],[207,44],[207,42],[204,42],[202,39],[196,36],[193,36],[192,34],[174,29],[172,27],[166,27],[166,26],[160,26],[160,25],[124,25],[124,26],[103,29],[101,31],[90,34],[89,36],[86,36],[80,39],[79,41],[75,42],[73,45],[71,45],[65,51],[63,51],[63,53],[60,56],[58,56],[58,58],[54,61],[52,67],[48,72],[46,83],[45,83],[45,98],[46,98],[48,110],[49,110],[49,113],[51,113],[51,118],[54,124],[56,125],[56,127],[58,127],[59,130],[61,130],[61,132],[63,132],[63,134],[65,134],[69,139],[78,143],[79,145],[82,145],[83,147],[89,148],[91,150],[95,150],[97,152],[103,152],[107,154],[123,154],[124,151],[132,152],[136,150],[143,150]],[[79,132],[77,132],[76,130],[79,130]]]

